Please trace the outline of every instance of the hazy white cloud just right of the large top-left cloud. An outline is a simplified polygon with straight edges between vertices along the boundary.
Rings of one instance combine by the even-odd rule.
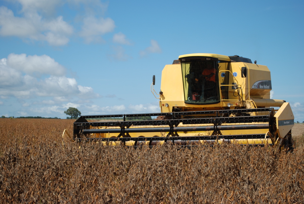
[[[86,43],[102,42],[101,35],[112,32],[115,23],[111,18],[95,18],[88,16],[83,20],[80,36],[85,38]]]

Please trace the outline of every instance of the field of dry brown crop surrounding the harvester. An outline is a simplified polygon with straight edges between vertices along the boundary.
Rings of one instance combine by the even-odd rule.
[[[1,203],[302,203],[304,125],[293,153],[79,144],[73,120],[0,119]],[[293,130],[294,131],[294,130]]]

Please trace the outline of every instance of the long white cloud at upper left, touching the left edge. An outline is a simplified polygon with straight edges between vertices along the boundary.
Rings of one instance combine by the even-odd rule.
[[[24,9],[24,15],[16,17],[12,10],[1,6],[0,35],[47,41],[54,46],[66,45],[68,37],[73,34],[73,27],[65,22],[62,16],[46,20],[34,10]]]

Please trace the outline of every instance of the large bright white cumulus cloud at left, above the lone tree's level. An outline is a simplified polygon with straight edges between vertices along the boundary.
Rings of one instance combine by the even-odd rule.
[[[34,73],[50,76],[40,79]],[[52,96],[57,101],[66,101],[65,97],[99,97],[91,87],[78,85],[76,79],[66,77],[64,73],[65,68],[47,55],[10,54],[8,59],[0,60],[0,95],[17,98]]]

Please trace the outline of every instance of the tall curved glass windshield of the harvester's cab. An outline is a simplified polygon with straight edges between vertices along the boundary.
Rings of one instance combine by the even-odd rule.
[[[184,76],[185,103],[212,104],[220,101],[218,60],[182,59],[181,69]]]

